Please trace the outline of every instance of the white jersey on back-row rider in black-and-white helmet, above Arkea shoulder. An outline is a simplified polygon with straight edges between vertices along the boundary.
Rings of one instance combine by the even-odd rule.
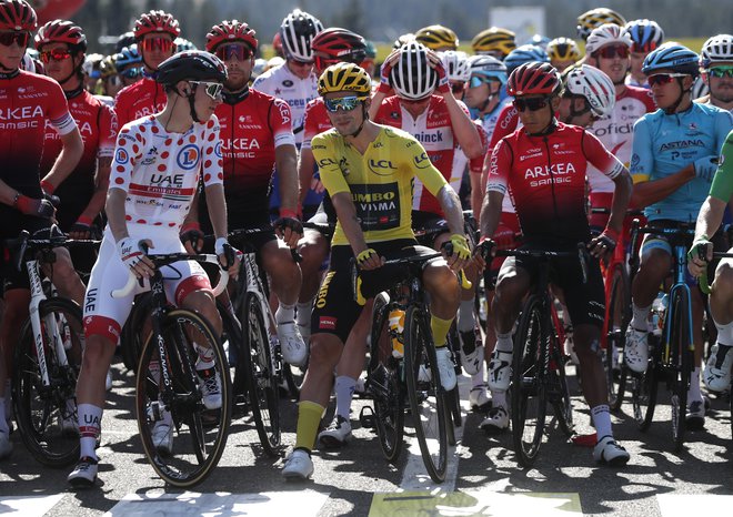
[[[290,71],[288,63],[283,63],[258,77],[252,83],[252,88],[275,99],[282,99],[288,103],[293,121],[295,143],[300,145],[303,141],[305,107],[319,97],[318,75],[311,72],[308,78],[300,79]]]

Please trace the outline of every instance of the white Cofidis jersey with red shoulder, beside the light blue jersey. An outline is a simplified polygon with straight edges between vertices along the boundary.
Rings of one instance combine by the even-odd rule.
[[[634,136],[634,122],[644,113],[656,111],[656,105],[650,90],[637,87],[626,87],[623,93],[616,95],[613,112],[604,119],[593,122],[588,131],[594,134],[603,145],[629,168],[631,146]],[[588,182],[591,192],[613,192],[614,184],[595,166],[588,168]]]

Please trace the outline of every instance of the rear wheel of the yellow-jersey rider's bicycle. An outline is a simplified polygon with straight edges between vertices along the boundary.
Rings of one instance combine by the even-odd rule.
[[[400,457],[404,439],[403,359],[392,356],[388,304],[386,293],[374,297],[368,384],[374,401],[374,424],[382,454],[388,462],[394,463]]]

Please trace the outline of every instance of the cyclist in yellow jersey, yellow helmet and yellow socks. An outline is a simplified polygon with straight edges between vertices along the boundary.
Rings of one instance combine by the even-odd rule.
[[[430,254],[412,233],[412,182],[418,176],[438,197],[451,229],[453,253],[425,263],[422,282],[431,300],[431,330],[436,345],[441,384],[455,386],[448,331],[459,307],[461,270],[471,252],[463,234],[458,194],[432,165],[422,145],[408,133],[371,122],[368,118],[371,80],[353,63],[338,63],[319,79],[332,130],[313,138],[312,150],[337,212],[338,223],[325,274],[311,318],[311,357],[300,393],[298,437],[282,475],[307,479],[313,474],[311,450],[324,406],[329,401],[333,368],[343,343],[359,317],[353,298],[351,261],[361,268],[361,292],[373,296],[394,282],[384,256]],[[389,277],[388,277],[389,276]]]

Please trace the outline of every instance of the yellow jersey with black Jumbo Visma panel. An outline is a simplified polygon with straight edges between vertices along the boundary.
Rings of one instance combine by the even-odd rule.
[[[368,243],[414,239],[415,176],[433,195],[448,184],[420,142],[394,128],[382,128],[364,154],[345,143],[335,129],[314,136],[311,148],[329,195],[351,194]],[[340,222],[331,244],[349,244]]]

